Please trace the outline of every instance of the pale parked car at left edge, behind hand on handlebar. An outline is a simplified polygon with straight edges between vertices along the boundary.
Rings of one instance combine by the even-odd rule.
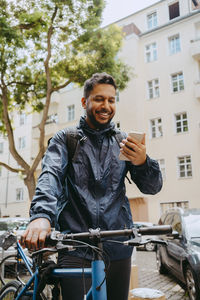
[[[17,237],[20,238],[28,223],[28,218],[0,218],[0,236],[6,231],[14,230]],[[15,252],[16,250],[13,246],[7,250],[3,250],[0,247],[0,261],[3,259],[3,257],[14,254]]]

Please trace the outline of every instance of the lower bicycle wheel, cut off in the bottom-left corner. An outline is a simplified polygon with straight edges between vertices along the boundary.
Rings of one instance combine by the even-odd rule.
[[[19,281],[10,281],[0,290],[1,300],[14,300],[20,289],[21,283]]]

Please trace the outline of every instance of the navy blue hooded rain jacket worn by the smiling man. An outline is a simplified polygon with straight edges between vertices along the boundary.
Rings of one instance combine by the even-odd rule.
[[[131,228],[125,176],[129,172],[142,193],[156,194],[162,187],[157,161],[147,156],[143,165],[135,166],[119,160],[113,123],[106,129],[94,130],[81,117],[77,128],[84,139],[78,144],[73,161],[68,159],[65,129],[50,141],[31,203],[31,221],[44,217],[53,227],[73,233],[89,228]],[[127,258],[132,253],[131,247],[109,242],[104,243],[104,249],[111,260]],[[83,251],[78,249],[69,255],[83,256]],[[89,252],[86,257],[90,258]]]

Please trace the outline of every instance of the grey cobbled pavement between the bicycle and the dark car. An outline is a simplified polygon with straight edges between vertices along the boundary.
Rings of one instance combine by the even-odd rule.
[[[170,275],[159,274],[156,267],[156,252],[137,251],[139,288],[152,288],[165,294],[166,300],[189,300],[185,290]]]

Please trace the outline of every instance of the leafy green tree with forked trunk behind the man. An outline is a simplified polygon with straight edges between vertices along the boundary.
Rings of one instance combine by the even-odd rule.
[[[53,92],[74,82],[80,86],[93,73],[112,74],[119,89],[129,68],[116,58],[122,32],[100,28],[103,0],[0,0],[0,130],[23,174],[29,198],[35,191],[35,170],[44,154],[45,123]],[[44,100],[45,99],[45,100]],[[29,165],[15,147],[11,113],[30,105],[42,111],[39,151]]]

